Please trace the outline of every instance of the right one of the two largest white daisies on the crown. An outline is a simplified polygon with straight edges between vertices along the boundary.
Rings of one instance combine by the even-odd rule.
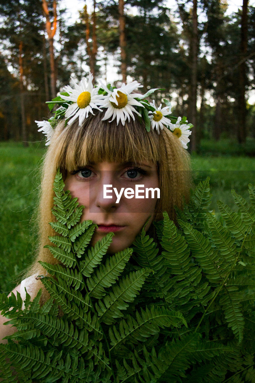
[[[102,118],[102,120],[109,119],[111,116],[113,118],[111,121],[114,120],[114,118],[117,118],[117,125],[119,123],[119,120],[121,120],[121,123],[125,125],[126,119],[130,121],[130,116],[132,119],[134,118],[134,115],[132,112],[135,112],[138,116],[141,117],[141,114],[137,112],[137,110],[134,108],[133,105],[141,106],[144,108],[144,106],[135,98],[141,97],[141,94],[139,93],[132,93],[133,90],[136,88],[142,87],[141,84],[137,81],[133,81],[130,84],[122,84],[120,88],[116,88],[111,92],[106,85],[101,83],[101,86],[104,88],[104,90],[108,93],[103,100],[101,101],[102,108],[108,108],[105,112],[105,116]],[[110,122],[111,122],[110,121]]]

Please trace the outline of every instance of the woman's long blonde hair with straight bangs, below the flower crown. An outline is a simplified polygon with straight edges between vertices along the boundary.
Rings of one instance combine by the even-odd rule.
[[[44,245],[50,243],[48,236],[56,234],[49,222],[55,220],[51,212],[52,188],[59,167],[65,177],[67,171],[84,167],[90,162],[136,164],[144,160],[152,161],[157,165],[160,187],[160,199],[157,200],[154,214],[156,221],[163,218],[163,211],[167,211],[170,218],[175,220],[174,206],[181,208],[183,200],[189,198],[190,156],[172,132],[168,129],[160,130],[160,134],[155,130],[147,132],[144,121],[137,117],[134,121],[126,121],[125,126],[117,125],[116,119],[109,123],[101,118],[102,113],[95,116],[90,114],[82,126],[78,126],[78,120],[67,126],[61,121],[54,130],[42,172],[38,257],[28,270],[28,275],[45,274],[38,260],[52,264],[58,262]]]

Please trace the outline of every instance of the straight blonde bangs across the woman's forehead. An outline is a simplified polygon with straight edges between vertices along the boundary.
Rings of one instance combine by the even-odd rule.
[[[78,126],[78,121],[72,126],[60,125],[54,152],[59,153],[58,166],[62,171],[103,161],[156,164],[160,159],[159,140],[159,134],[148,134],[140,121],[131,119],[123,126],[117,125],[116,119],[109,123],[102,121],[101,115],[90,115],[85,126]]]

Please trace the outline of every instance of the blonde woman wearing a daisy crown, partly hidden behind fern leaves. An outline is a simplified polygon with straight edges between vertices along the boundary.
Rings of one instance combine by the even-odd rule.
[[[141,87],[137,82],[115,89],[101,83],[100,89],[93,87],[92,79],[90,75],[88,81],[74,83],[74,89],[65,87],[65,93],[55,101],[60,105],[55,118],[37,121],[50,145],[41,183],[38,257],[27,278],[13,290],[20,292],[23,300],[25,287],[32,299],[42,287],[36,276],[45,270],[38,260],[57,262],[44,246],[50,243],[48,237],[56,234],[49,222],[54,221],[53,181],[58,168],[65,189],[85,206],[82,221],[91,219],[98,226],[92,246],[107,232],[114,232],[109,253],[131,246],[146,222],[145,230],[154,236],[152,221],[162,219],[163,211],[175,220],[174,206],[181,207],[183,196],[188,199],[190,162],[185,147],[190,124],[181,124],[180,118],[173,124],[168,118],[170,105],[157,108],[155,101],[149,103],[145,95],[132,93]],[[146,130],[148,117],[150,131]],[[149,198],[141,198],[141,194],[131,198],[130,190],[117,197],[121,190],[135,189],[136,185],[159,189],[160,198],[155,193]],[[112,198],[104,195],[105,187],[115,188]],[[42,303],[47,298],[44,290]],[[0,320],[3,324],[6,318],[1,316]],[[0,339],[15,331],[10,325],[0,329]]]

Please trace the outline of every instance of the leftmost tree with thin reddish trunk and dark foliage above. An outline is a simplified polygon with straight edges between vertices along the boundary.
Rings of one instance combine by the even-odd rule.
[[[33,8],[33,14],[31,13]],[[14,76],[19,80],[19,92],[16,102],[20,104],[21,132],[25,146],[28,145],[28,121],[26,118],[28,107],[26,98],[28,87],[34,88],[31,72],[38,65],[38,56],[41,51],[42,17],[40,3],[32,0],[0,1],[0,15],[5,18],[5,26],[0,28],[2,48],[5,52],[5,61],[13,68]],[[16,124],[15,137],[19,139],[19,124]]]

